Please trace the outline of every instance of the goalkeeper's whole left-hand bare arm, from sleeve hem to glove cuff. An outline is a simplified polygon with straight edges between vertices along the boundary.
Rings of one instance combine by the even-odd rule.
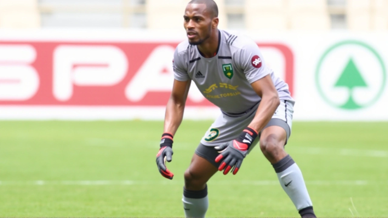
[[[182,123],[183,112],[189,92],[191,80],[178,81],[174,80],[174,85],[170,95],[170,99],[166,106],[165,115],[165,133],[175,135],[180,123]]]

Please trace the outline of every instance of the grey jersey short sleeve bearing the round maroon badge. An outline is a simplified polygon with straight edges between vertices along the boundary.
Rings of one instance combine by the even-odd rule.
[[[260,80],[270,74],[270,69],[265,64],[260,48],[253,40],[245,40],[237,61],[239,61],[239,65],[249,83]]]

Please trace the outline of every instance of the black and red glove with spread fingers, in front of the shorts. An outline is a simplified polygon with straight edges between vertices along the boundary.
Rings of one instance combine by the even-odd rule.
[[[226,175],[234,167],[232,172],[233,175],[236,175],[241,167],[242,160],[248,153],[249,147],[251,147],[257,135],[258,132],[256,130],[247,127],[235,140],[214,147],[214,149],[221,153],[216,157],[215,162],[218,163],[223,159],[218,170],[222,171],[225,169],[223,174]]]

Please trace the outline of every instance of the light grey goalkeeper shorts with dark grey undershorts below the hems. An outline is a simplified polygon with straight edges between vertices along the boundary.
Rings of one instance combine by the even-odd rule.
[[[222,113],[213,122],[208,131],[206,131],[195,153],[198,156],[205,158],[218,168],[220,163],[215,163],[215,158],[219,153],[215,151],[214,147],[236,139],[240,135],[241,131],[244,130],[244,128],[246,128],[255,117],[257,107],[258,105],[240,116],[229,116],[225,113]],[[263,129],[269,126],[280,126],[286,130],[288,141],[288,138],[291,135],[293,112],[294,102],[281,100],[280,105],[277,107],[274,115]],[[253,149],[253,147],[256,146],[259,141],[260,133],[256,140],[253,142],[252,146],[249,148],[248,153]]]

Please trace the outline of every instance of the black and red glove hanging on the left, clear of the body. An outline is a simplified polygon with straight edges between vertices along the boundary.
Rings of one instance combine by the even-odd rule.
[[[168,179],[172,179],[174,176],[174,174],[166,168],[166,161],[171,162],[172,159],[172,143],[173,135],[170,133],[163,133],[162,139],[160,140],[160,149],[156,155],[156,165],[158,165],[159,173]]]

